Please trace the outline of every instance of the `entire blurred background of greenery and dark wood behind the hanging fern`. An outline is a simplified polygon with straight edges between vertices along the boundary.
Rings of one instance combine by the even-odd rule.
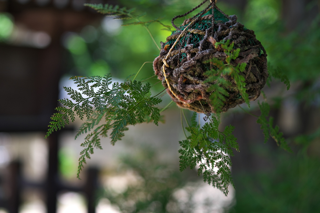
[[[218,7],[255,31],[268,69],[285,73],[291,88],[270,78],[263,91],[271,115],[292,148],[285,152],[263,134],[256,118],[234,108],[240,152],[231,157],[236,190],[228,197],[196,171],[179,171],[180,110],[165,123],[131,126],[115,146],[102,141],[76,179],[83,138],[80,120],[44,139],[63,86],[74,75],[112,73],[123,81],[158,49],[141,26],[98,14],[84,3],[119,4],[171,24],[200,0],[0,0],[0,212],[320,212],[320,1],[218,0]],[[192,15],[192,14],[191,14]],[[176,23],[182,23],[178,19]],[[156,42],[171,32],[149,26]],[[153,75],[147,63],[138,79]],[[156,79],[150,80],[151,84]],[[161,91],[157,84],[153,92]],[[165,95],[164,107],[170,102]],[[262,100],[262,97],[260,98]],[[245,108],[245,106],[243,106]],[[260,115],[257,103],[250,112]]]

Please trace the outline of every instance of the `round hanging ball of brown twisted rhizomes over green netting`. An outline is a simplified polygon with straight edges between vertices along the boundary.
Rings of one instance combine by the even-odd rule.
[[[257,99],[267,81],[268,70],[266,50],[256,39],[254,32],[237,22],[236,15],[227,16],[216,6],[214,15],[212,8],[199,14],[186,19],[179,31],[168,36],[165,43],[161,42],[160,55],[153,62],[154,71],[172,100],[178,106],[196,112],[216,112],[210,98],[214,91],[208,89],[217,82],[206,83],[208,76],[204,73],[214,69],[208,62],[212,58],[226,63],[224,49],[215,48],[214,45],[222,40],[234,42],[234,48],[240,49],[239,56],[231,60],[230,64],[236,67],[240,63],[246,63],[245,70],[239,74],[245,79],[249,100]],[[225,95],[219,111],[225,112],[244,103],[241,93],[234,89],[235,80],[228,75],[221,75],[220,78],[230,81],[231,85],[221,86],[228,95]]]

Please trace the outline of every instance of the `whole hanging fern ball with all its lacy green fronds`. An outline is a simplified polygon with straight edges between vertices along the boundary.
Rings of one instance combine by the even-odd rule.
[[[267,54],[254,32],[236,22],[235,15],[228,16],[222,12],[216,6],[216,1],[210,1],[204,10],[186,19],[180,27],[174,24],[175,19],[187,16],[207,1],[172,19],[172,26],[176,30],[165,43],[161,42],[161,49],[158,48],[160,55],[153,62],[155,76],[164,86],[164,90],[158,94],[151,95],[152,86],[148,82],[143,83],[146,80],[136,80],[145,63],[132,80],[122,83],[112,83],[110,73],[103,77],[71,77],[81,92],[64,87],[71,100],[59,100],[63,106],[57,107],[58,113],[51,117],[46,137],[69,124],[69,121],[73,122],[75,116],[87,118],[76,133],[76,138],[86,134],[81,144],[84,149],[80,153],[78,178],[94,148],[102,148],[101,137],[110,136],[111,143],[115,144],[124,136],[128,125],[150,121],[158,125],[160,113],[174,101],[181,108],[205,113],[204,119],[209,121],[200,126],[196,121],[197,113],[188,121],[184,111],[180,111],[186,137],[179,141],[180,171],[198,166],[198,175],[202,175],[204,181],[228,194],[229,184],[233,185],[230,156],[233,156],[233,149],[239,151],[239,146],[232,133],[234,126],[219,130],[219,114],[241,103],[249,105],[250,101],[259,97],[268,78]],[[171,28],[158,19],[141,21],[144,14],[133,15],[134,9],[108,4],[86,6],[107,16],[116,16],[116,19],[135,20],[125,25],[145,27],[155,44],[148,26],[156,22],[167,29]],[[278,77],[284,78],[283,75]],[[289,87],[289,82],[285,82]],[[156,105],[162,102],[159,97],[165,90],[173,101],[160,110]],[[277,126],[274,127],[273,118],[268,115],[268,103],[259,103],[259,107],[261,115],[256,116],[257,123],[261,124],[265,141],[271,136],[279,146],[289,150],[282,133]],[[210,117],[211,113],[218,118]],[[182,118],[185,119],[186,128]],[[185,130],[189,132],[188,135]]]

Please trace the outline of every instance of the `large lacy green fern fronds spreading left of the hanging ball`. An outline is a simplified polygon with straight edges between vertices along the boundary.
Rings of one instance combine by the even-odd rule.
[[[142,123],[150,116],[154,124],[158,125],[160,110],[155,107],[161,103],[161,99],[151,96],[150,83],[142,85],[140,81],[128,81],[125,83],[112,83],[111,74],[104,77],[82,77],[75,76],[74,80],[78,92],[71,87],[64,87],[70,95],[70,99],[59,100],[63,107],[57,107],[59,113],[55,113],[51,119],[49,130],[45,137],[53,131],[57,131],[75,120],[87,118],[78,129],[75,138],[87,133],[85,142],[81,144],[84,149],[80,153],[78,174],[90,158],[94,148],[101,149],[100,136],[108,137],[111,130],[111,143],[121,140],[128,125]],[[104,119],[103,119],[104,118]],[[100,124],[101,121],[103,124]],[[100,124],[100,126],[99,126]]]

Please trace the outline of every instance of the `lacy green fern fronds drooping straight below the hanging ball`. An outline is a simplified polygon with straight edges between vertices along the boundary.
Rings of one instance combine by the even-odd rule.
[[[190,126],[186,130],[190,133],[187,140],[180,141],[180,171],[187,167],[191,169],[199,165],[198,175],[203,175],[204,181],[228,194],[228,185],[234,185],[229,167],[232,165],[230,157],[232,148],[239,151],[236,138],[232,134],[233,126],[227,126],[223,132],[218,130],[219,121],[212,117],[210,123],[199,128],[196,113],[191,118]],[[218,171],[214,171],[214,167]]]

